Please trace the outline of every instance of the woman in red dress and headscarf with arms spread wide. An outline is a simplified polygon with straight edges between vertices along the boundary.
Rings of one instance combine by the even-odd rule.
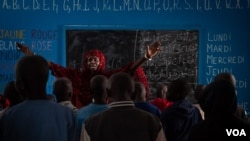
[[[135,81],[142,82],[147,90],[147,95],[149,95],[149,86],[147,77],[144,73],[141,64],[143,64],[148,59],[152,59],[160,50],[160,42],[156,41],[150,46],[147,46],[145,56],[138,59],[136,62],[131,62],[128,65],[116,69],[116,70],[105,70],[106,59],[104,54],[99,50],[89,50],[83,58],[83,70],[72,69],[60,66],[53,62],[48,61],[52,74],[55,77],[67,77],[72,81],[73,84],[73,97],[72,103],[77,107],[81,108],[92,102],[92,97],[90,95],[90,80],[93,76],[97,74],[103,74],[107,77],[111,76],[116,72],[127,72],[134,77]],[[34,53],[29,49],[28,46],[17,43],[17,47],[20,51],[26,55],[34,55]]]

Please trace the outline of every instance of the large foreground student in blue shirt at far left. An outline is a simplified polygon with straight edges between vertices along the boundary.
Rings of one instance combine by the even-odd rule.
[[[0,120],[1,141],[74,141],[76,118],[67,107],[47,99],[47,61],[38,55],[20,58],[15,85],[26,100],[10,108]]]

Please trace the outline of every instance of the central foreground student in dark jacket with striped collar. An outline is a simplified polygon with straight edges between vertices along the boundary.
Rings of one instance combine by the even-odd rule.
[[[134,106],[132,77],[123,72],[109,79],[110,108],[85,121],[81,141],[165,141],[159,118]]]

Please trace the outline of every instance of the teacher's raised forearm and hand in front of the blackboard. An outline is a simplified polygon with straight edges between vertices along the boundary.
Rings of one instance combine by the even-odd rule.
[[[151,60],[160,51],[160,41],[155,41],[151,45],[147,45],[144,57],[138,59],[128,70],[128,73],[133,74],[135,70],[147,60]]]

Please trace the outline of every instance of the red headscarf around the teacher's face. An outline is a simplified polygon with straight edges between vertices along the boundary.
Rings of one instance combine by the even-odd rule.
[[[88,58],[90,56],[96,56],[99,58],[100,64],[97,68],[97,71],[103,71],[105,68],[105,65],[106,65],[106,58],[105,58],[104,54],[102,53],[102,51],[97,50],[97,49],[92,49],[92,50],[89,50],[85,53],[85,55],[83,57],[83,69],[88,69],[87,61],[88,61]]]

